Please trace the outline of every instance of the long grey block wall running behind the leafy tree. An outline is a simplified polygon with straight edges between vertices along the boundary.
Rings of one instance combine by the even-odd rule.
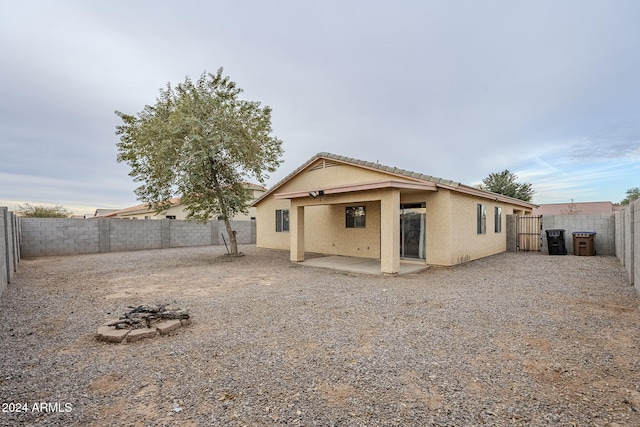
[[[232,221],[240,244],[255,243],[255,221]],[[21,218],[23,257],[222,245],[222,221]]]

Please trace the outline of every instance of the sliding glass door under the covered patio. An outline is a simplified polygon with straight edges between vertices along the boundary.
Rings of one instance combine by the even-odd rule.
[[[400,205],[400,257],[425,259],[426,217],[424,203]]]

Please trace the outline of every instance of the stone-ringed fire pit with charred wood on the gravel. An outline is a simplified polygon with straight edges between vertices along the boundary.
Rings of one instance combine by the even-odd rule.
[[[169,304],[145,304],[112,319],[98,328],[96,338],[100,341],[121,343],[134,342],[156,335],[167,335],[182,326],[191,324],[189,312]]]

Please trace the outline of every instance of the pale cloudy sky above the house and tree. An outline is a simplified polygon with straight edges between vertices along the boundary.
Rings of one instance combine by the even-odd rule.
[[[0,206],[139,204],[114,111],[224,74],[273,109],[271,186],[318,152],[533,202],[640,186],[636,0],[3,0]]]

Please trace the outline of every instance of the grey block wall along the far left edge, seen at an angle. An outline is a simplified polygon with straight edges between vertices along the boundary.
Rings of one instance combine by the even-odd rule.
[[[0,207],[0,295],[18,271],[20,222],[7,208]]]

